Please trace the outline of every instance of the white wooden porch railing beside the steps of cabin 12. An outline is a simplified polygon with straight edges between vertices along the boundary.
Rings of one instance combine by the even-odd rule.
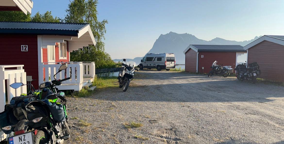
[[[56,62],[57,63],[57,62]],[[70,77],[70,80],[62,82],[57,86],[59,90],[75,90],[80,91],[83,88],[84,77],[95,77],[94,62],[68,62],[68,68],[56,74],[56,79],[64,79]],[[51,62],[42,63],[39,66],[39,84],[51,82],[54,80],[53,75],[58,71],[61,64]]]

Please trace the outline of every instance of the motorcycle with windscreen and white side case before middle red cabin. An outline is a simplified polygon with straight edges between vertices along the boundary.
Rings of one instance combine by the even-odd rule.
[[[228,77],[231,73],[233,73],[233,68],[231,66],[220,66],[217,65],[218,61],[214,61],[212,66],[212,70],[208,73],[208,77],[213,76],[214,74],[223,76],[224,78]]]

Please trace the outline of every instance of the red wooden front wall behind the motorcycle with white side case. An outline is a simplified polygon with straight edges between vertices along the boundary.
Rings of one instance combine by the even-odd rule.
[[[204,57],[201,58],[201,55]],[[212,63],[217,60],[218,65],[232,66],[235,68],[236,52],[199,52],[198,55],[198,72],[202,73],[202,67],[204,67],[204,73],[208,73],[212,70],[210,68]]]

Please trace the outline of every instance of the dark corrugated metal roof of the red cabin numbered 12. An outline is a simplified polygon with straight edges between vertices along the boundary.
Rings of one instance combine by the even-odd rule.
[[[79,30],[88,25],[57,22],[0,22],[0,33],[78,36]]]

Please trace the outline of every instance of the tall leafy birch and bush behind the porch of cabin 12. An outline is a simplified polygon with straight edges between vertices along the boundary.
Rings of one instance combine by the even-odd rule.
[[[113,68],[115,63],[110,58],[110,55],[105,52],[105,39],[107,20],[99,21],[97,19],[97,0],[74,0],[68,5],[66,10],[65,22],[72,23],[89,23],[93,35],[95,37],[96,45],[83,47],[70,53],[71,61],[92,61],[95,62],[96,68]]]

